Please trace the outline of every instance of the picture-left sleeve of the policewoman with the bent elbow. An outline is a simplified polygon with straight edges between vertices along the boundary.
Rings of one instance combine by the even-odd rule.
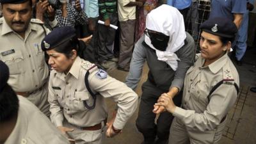
[[[48,102],[50,104],[51,111],[51,121],[56,127],[63,125],[63,110],[58,102],[57,97],[55,96],[54,90],[52,89],[52,72],[49,80],[49,93],[48,93]]]

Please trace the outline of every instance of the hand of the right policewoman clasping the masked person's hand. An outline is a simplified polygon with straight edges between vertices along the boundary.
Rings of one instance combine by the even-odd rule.
[[[154,106],[163,106],[167,111],[170,113],[174,113],[175,111],[175,104],[172,100],[172,97],[168,96],[167,93],[163,93],[161,97],[157,100],[157,103]]]

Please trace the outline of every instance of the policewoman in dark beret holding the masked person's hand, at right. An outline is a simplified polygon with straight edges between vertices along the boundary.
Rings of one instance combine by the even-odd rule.
[[[166,93],[155,105],[175,116],[170,144],[218,143],[239,92],[239,75],[227,55],[236,37],[236,24],[216,17],[206,20],[200,29],[201,53],[186,73],[182,107],[175,106]]]

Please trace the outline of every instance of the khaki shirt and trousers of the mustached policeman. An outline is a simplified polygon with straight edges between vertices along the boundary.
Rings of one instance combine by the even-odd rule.
[[[0,19],[0,60],[8,65],[8,84],[15,92],[29,93],[28,99],[49,116],[46,86],[49,70],[45,63],[41,41],[49,29],[40,20],[31,19],[25,38],[15,33],[4,17]]]

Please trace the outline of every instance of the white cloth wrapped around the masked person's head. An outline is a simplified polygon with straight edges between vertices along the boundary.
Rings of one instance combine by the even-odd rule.
[[[147,35],[145,35],[145,42],[156,50],[158,60],[165,61],[173,70],[177,70],[179,58],[174,52],[184,45],[186,39],[182,14],[177,8],[163,4],[148,13],[146,28],[170,36],[166,51],[157,50]]]

